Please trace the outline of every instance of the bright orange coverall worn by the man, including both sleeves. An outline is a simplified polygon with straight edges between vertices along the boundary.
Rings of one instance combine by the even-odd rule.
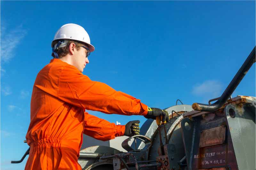
[[[108,85],[90,80],[76,67],[52,59],[37,75],[31,97],[25,169],[81,169],[83,133],[99,140],[123,136],[125,126],[85,112],[147,115],[148,107]]]

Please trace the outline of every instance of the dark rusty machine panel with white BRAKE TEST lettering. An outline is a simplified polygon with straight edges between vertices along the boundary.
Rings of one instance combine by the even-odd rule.
[[[219,112],[208,113],[206,115],[203,114],[193,117],[193,121],[190,121],[190,119],[188,118],[191,119],[191,117],[187,117],[184,118],[183,121],[181,122],[184,137],[183,140],[185,141],[186,147],[186,156],[188,157],[188,169],[198,170],[226,168],[238,170],[236,156],[230,136],[230,131],[227,128],[228,122],[226,119],[226,115],[223,113],[223,110],[220,110]],[[190,130],[186,129],[185,126],[183,125],[185,121],[189,122],[191,126]],[[224,142],[222,144],[200,147],[200,132],[203,132],[204,130],[207,131],[209,129],[214,129],[216,127],[216,131],[220,130],[218,129],[218,127],[222,127],[221,131],[224,131],[223,127],[226,127],[226,139],[218,139],[219,141]],[[212,134],[212,139],[210,139],[210,141],[215,140],[213,137],[214,135]],[[207,140],[206,137],[204,139]]]

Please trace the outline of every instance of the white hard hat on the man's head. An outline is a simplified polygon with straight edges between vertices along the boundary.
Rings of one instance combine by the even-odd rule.
[[[85,31],[85,29],[82,26],[79,26],[77,24],[65,24],[61,26],[60,29],[56,32],[52,41],[63,40],[63,39],[84,42],[85,44],[88,45],[90,52],[94,51],[95,49],[91,44],[88,33]]]

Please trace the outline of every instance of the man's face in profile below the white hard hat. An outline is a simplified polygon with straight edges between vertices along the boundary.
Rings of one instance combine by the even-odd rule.
[[[89,63],[88,57],[86,57],[87,49],[80,47],[79,50],[74,49],[73,65],[80,71],[83,72],[86,64]]]

